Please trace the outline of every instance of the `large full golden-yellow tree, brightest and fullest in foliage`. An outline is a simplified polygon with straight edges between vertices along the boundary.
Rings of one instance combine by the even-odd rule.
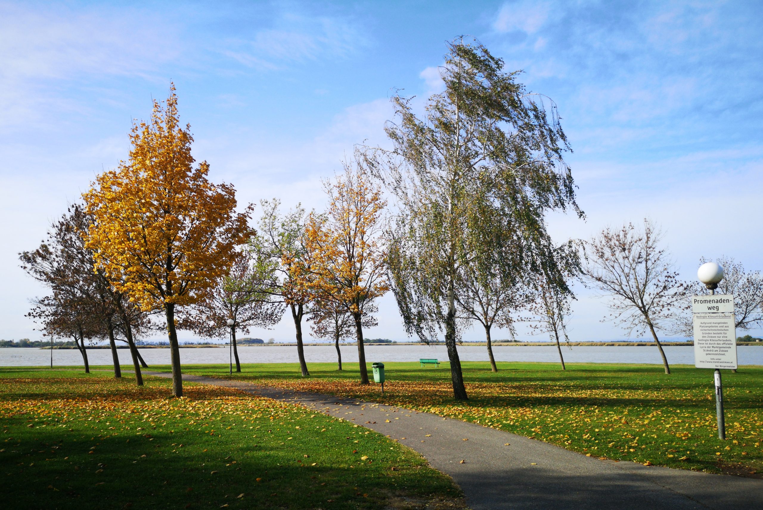
[[[251,209],[235,211],[235,190],[193,167],[190,125],[179,124],[175,86],[153,102],[150,121],[133,125],[130,156],[101,173],[84,196],[92,222],[87,246],[114,289],[143,311],[163,311],[172,360],[172,394],[182,396],[175,308],[203,299],[227,273],[250,235]]]

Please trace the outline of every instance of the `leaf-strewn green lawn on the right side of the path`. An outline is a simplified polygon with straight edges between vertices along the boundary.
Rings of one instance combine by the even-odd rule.
[[[763,367],[723,371],[726,441],[717,437],[712,370],[674,366],[568,363],[463,363],[468,402],[452,399],[447,363],[385,363],[385,395],[361,386],[358,365],[249,364],[236,379],[372,399],[535,437],[592,457],[711,473],[763,473]],[[185,366],[227,377],[228,366]],[[370,373],[370,368],[369,368]]]

